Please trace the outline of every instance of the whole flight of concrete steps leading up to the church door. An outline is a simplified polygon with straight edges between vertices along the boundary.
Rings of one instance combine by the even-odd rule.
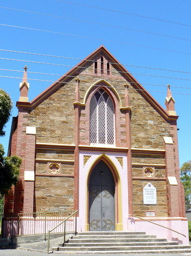
[[[54,252],[64,253],[189,253],[189,245],[158,239],[145,232],[91,231],[80,232],[67,243],[53,247]]]

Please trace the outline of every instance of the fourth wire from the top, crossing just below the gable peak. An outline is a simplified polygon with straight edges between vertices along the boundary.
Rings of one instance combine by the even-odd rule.
[[[32,55],[40,55],[40,56],[47,56],[47,57],[66,58],[66,59],[68,59],[68,60],[78,60],[78,61],[94,62],[93,60],[88,60],[88,59],[83,59],[83,58],[64,57],[64,56],[49,55],[49,54],[41,54],[41,53],[33,53],[33,52],[22,52],[22,51],[13,51],[13,50],[5,50],[5,49],[0,49],[0,51],[15,52],[15,53],[24,53],[24,54],[32,54]],[[101,61],[97,61],[97,62],[100,62],[100,63],[101,63]],[[106,63],[106,62],[103,62],[103,63]],[[109,63],[110,63],[110,64],[115,64],[115,65],[136,67],[136,68],[147,68],[147,69],[154,69],[154,70],[161,70],[161,71],[171,71],[171,72],[179,72],[179,73],[191,74],[191,72],[188,72],[188,71],[180,71],[180,70],[172,70],[172,69],[164,69],[164,68],[144,67],[144,66],[137,66],[137,65],[130,65],[130,64],[121,64],[121,63],[119,64],[119,63],[114,63],[114,62],[109,62]]]

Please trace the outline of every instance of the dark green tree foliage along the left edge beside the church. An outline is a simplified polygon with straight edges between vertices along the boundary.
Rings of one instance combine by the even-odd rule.
[[[13,104],[8,93],[0,89],[0,136],[5,135],[3,130],[11,116]],[[3,196],[8,193],[12,185],[16,185],[19,178],[21,159],[16,156],[4,156],[3,145],[0,144],[0,211],[3,210]],[[0,212],[1,214],[2,212]]]

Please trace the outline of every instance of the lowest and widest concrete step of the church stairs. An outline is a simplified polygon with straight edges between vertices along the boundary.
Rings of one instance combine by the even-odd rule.
[[[159,246],[115,246],[112,247],[112,251],[118,253],[118,251],[135,251],[135,250],[142,250],[145,252],[145,250],[179,250],[179,249],[189,249],[189,252],[191,252],[190,246],[189,245],[159,245]],[[53,250],[56,251],[64,251],[64,252],[71,252],[74,251],[74,247],[53,247]],[[91,246],[91,247],[81,247],[81,246],[76,246],[75,251],[110,251],[111,247],[110,246],[105,246],[105,247],[99,247],[99,246]]]

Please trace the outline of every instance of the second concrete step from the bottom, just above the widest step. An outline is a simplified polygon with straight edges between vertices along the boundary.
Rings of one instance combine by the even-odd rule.
[[[65,243],[64,247],[96,247],[96,246],[102,246],[102,247],[116,247],[117,246],[156,246],[156,245],[178,245],[178,242],[134,242],[134,243]],[[60,245],[62,246],[62,245]]]

